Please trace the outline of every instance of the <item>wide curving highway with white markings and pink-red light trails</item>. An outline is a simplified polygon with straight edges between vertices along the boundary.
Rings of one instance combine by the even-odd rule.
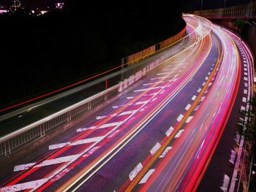
[[[195,15],[184,20],[186,46],[69,134],[1,164],[0,191],[195,191],[244,59],[229,31]]]

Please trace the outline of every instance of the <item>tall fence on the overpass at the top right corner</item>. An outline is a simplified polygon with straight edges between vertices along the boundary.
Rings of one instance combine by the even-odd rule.
[[[192,12],[194,15],[200,15],[204,18],[256,18],[256,1],[247,4],[241,4],[233,7],[219,9],[204,9]]]

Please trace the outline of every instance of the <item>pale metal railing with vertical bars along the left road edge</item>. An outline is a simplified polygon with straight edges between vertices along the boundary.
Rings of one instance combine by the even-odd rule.
[[[37,139],[43,137],[45,132],[49,131],[52,128],[55,128],[62,123],[67,123],[72,118],[80,114],[81,112],[86,112],[91,110],[94,106],[106,101],[115,93],[118,92],[118,85],[109,88],[106,91],[91,96],[88,99],[78,102],[70,107],[67,107],[64,110],[54,113],[53,115],[38,120],[35,123],[31,123],[29,126],[25,126],[18,131],[12,132],[5,137],[0,138],[0,155],[8,155],[12,150],[24,145],[26,142],[31,141],[32,139]]]

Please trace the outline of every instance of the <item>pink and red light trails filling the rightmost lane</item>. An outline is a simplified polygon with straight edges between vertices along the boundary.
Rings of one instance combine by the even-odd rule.
[[[185,129],[193,130],[193,134],[195,131],[194,128],[200,125],[200,118],[197,118],[197,115],[204,117],[202,116],[202,113],[207,109],[207,105],[214,104],[214,102],[216,103],[216,101],[219,103],[219,109],[216,108],[217,115],[215,115],[216,113],[214,113],[215,118],[209,118],[209,123],[207,123],[206,126],[203,126],[202,129],[200,128],[200,131],[202,131],[204,134],[197,136],[197,138],[195,137],[195,139],[198,139],[202,142],[195,142],[194,145],[191,145],[189,147],[190,149],[188,149],[184,154],[185,160],[181,159],[180,164],[176,167],[177,171],[173,172],[173,177],[170,178],[170,182],[166,183],[165,188],[158,188],[159,190],[196,190],[197,185],[199,185],[200,180],[203,177],[204,172],[206,172],[206,168],[209,162],[211,161],[211,157],[217,147],[220,137],[222,136],[222,132],[224,131],[228,117],[233,108],[233,104],[235,101],[235,99],[233,98],[236,98],[241,78],[241,59],[238,56],[238,50],[236,49],[236,45],[234,44],[233,40],[221,30],[216,30],[214,28],[214,31],[219,39],[221,39],[222,47],[224,50],[219,74],[213,85],[215,88],[211,88],[208,95],[206,96],[206,99],[203,101],[202,104],[200,104],[200,108],[195,113],[194,118]],[[230,78],[230,80],[227,80],[228,78]],[[212,96],[217,96],[217,99],[211,99]],[[210,115],[213,111],[214,107],[210,109],[210,113],[208,113],[208,115]],[[205,118],[205,121],[207,121],[207,117]],[[183,140],[186,138],[189,138],[189,134],[182,135],[177,143],[174,142],[173,149],[175,149],[176,147],[180,149],[180,147],[178,147],[178,144],[182,145],[182,143],[184,142]],[[191,148],[194,150],[191,150]],[[159,162],[155,172],[160,175],[162,172],[164,172],[164,169],[168,169],[168,162],[172,161],[173,158],[176,158],[177,153],[180,153],[180,151],[173,150],[170,154],[168,154],[168,156],[166,157],[167,160]],[[185,161],[189,163],[186,163]],[[151,188],[151,185],[154,185],[154,182],[157,182],[157,176],[155,175],[153,175],[148,180],[146,185],[143,185],[143,187],[140,188],[141,191],[149,190],[149,188]],[[159,180],[158,182],[160,183],[160,186],[161,182]]]

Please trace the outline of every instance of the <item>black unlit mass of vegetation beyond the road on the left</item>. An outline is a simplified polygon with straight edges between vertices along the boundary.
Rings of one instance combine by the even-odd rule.
[[[118,66],[173,36],[184,27],[184,1],[70,0],[42,16],[29,9],[0,15],[0,108]]]

